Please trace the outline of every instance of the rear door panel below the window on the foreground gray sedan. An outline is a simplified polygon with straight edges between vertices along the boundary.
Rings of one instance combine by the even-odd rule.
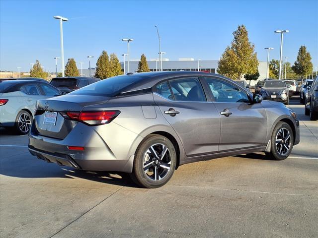
[[[182,97],[178,95],[178,98]],[[179,136],[186,155],[191,157],[217,152],[220,117],[214,105],[207,101],[173,101],[171,98],[167,90],[154,93],[155,103]],[[170,114],[172,110],[177,113]]]

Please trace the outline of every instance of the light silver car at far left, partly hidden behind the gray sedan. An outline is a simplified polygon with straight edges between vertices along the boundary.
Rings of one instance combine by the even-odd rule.
[[[0,126],[13,128],[19,134],[29,132],[38,99],[61,95],[41,80],[0,81]]]

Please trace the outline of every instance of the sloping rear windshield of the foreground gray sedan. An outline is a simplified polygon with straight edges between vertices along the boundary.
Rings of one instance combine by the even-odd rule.
[[[77,95],[95,95],[95,96],[115,96],[116,94],[123,92],[125,88],[134,83],[137,83],[145,77],[141,76],[116,76],[112,78],[103,79],[93,84],[89,84],[83,88],[80,88],[71,94]]]

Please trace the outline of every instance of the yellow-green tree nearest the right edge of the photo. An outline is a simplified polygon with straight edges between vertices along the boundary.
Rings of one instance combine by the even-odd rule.
[[[306,46],[301,46],[299,48],[297,60],[292,66],[292,69],[301,77],[302,80],[304,76],[313,72],[312,57],[310,53],[307,52]]]

